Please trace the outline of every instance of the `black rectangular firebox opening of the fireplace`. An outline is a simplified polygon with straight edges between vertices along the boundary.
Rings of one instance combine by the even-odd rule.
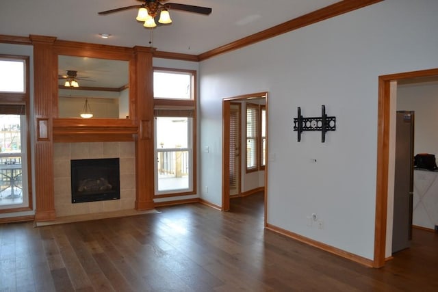
[[[71,202],[120,200],[120,161],[118,158],[70,161]]]

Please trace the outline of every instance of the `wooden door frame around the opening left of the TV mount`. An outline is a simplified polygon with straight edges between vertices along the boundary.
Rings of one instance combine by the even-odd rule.
[[[244,94],[240,96],[233,96],[222,99],[222,211],[229,211],[230,209],[230,189],[229,189],[229,146],[230,140],[228,129],[230,127],[230,104],[237,101],[246,101],[254,98],[265,98],[266,104],[266,153],[268,152],[268,92],[257,92],[253,94]],[[243,150],[240,150],[241,155]],[[266,159],[265,166],[265,193],[264,193],[264,225],[266,226],[266,215],[268,208],[268,159]]]

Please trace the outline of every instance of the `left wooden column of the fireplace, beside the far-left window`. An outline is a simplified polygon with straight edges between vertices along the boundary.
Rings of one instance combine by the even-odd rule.
[[[34,45],[34,133],[36,221],[54,220],[53,189],[53,90],[57,87],[53,42],[56,38],[30,36]]]

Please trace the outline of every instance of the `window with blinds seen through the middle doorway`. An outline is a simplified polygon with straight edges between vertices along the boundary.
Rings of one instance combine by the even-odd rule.
[[[246,172],[266,165],[266,106],[246,104]]]

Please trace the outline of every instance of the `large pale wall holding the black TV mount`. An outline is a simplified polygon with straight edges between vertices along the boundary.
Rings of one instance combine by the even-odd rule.
[[[387,0],[201,62],[203,198],[221,204],[222,98],[268,91],[268,224],[372,259],[378,76],[438,67],[437,15],[435,0]],[[337,130],[297,142],[296,108],[321,105]]]

